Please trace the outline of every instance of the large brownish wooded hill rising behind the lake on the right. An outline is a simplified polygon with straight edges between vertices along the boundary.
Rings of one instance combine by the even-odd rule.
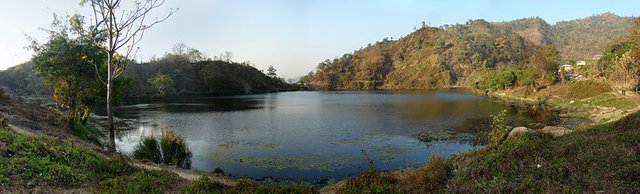
[[[634,18],[611,13],[549,25],[540,18],[423,26],[320,63],[302,82],[323,89],[439,88],[477,83],[486,70],[520,68],[545,47],[559,61],[590,60],[627,35]],[[548,49],[547,49],[548,50]],[[529,61],[528,61],[529,60]],[[535,60],[535,59],[534,59]]]

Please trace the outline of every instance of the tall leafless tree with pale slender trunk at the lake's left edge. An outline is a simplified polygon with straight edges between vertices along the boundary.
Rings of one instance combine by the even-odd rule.
[[[107,86],[107,127],[109,129],[110,152],[116,152],[115,127],[113,124],[113,80],[120,77],[135,58],[147,29],[161,23],[173,15],[177,9],[170,9],[164,17],[155,17],[149,20],[149,13],[162,6],[164,0],[142,0],[132,4],[122,4],[122,0],[81,0],[81,5],[89,5],[93,10],[93,21],[84,29],[79,17],[76,18],[75,29],[78,29],[86,37],[107,53],[107,77],[106,80],[98,75],[100,81]],[[125,7],[126,6],[126,7]],[[95,64],[96,70],[99,64]]]

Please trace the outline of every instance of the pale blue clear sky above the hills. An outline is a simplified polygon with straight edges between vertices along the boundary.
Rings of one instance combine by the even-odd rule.
[[[79,0],[7,0],[0,7],[0,70],[28,61],[27,37],[46,42],[53,15],[84,14]],[[208,56],[225,51],[278,76],[295,78],[325,59],[385,37],[397,39],[424,21],[431,26],[470,19],[540,17],[550,24],[613,12],[640,15],[638,0],[166,0],[153,16],[179,10],[145,33],[136,60],[162,57],[176,43]]]

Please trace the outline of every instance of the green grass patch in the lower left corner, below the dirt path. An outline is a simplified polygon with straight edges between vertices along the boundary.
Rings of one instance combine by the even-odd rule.
[[[107,158],[56,137],[35,137],[0,128],[2,188],[153,192],[158,191],[156,187],[162,188],[162,183],[170,185],[176,179],[177,175],[164,171],[134,168],[122,156]]]

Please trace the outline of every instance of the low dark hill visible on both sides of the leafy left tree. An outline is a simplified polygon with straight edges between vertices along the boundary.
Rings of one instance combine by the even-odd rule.
[[[160,76],[158,76],[160,75]],[[127,69],[126,97],[157,97],[158,84],[164,95],[231,95],[252,94],[294,89],[279,78],[272,78],[248,65],[220,60],[188,62],[169,55],[148,63],[133,64]],[[169,79],[167,79],[169,78]],[[0,87],[18,95],[50,95],[43,80],[35,75],[33,63],[27,62],[0,71]]]

